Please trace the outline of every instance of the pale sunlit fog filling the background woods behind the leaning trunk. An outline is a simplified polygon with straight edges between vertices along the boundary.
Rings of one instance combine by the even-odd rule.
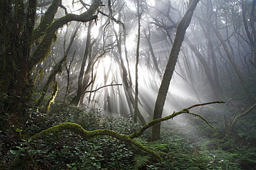
[[[89,4],[90,1],[84,3]],[[98,19],[91,21],[91,26],[89,23],[78,25],[74,38],[72,34],[77,26],[74,21],[58,31],[57,43],[53,45],[48,61],[42,63],[46,70],[44,78],[47,78],[52,69],[49,63],[60,61],[73,39],[66,66],[63,67],[62,74],[57,76],[60,86],[57,95],[60,98],[66,96],[66,102],[72,102],[77,96],[78,78],[82,74],[82,95],[76,104],[99,108],[106,116],[131,117],[134,108],[129,93],[133,96],[135,94],[137,4],[134,1],[102,3],[104,6],[99,9]],[[246,3],[250,5],[251,2]],[[64,6],[68,12],[84,12],[78,1],[64,1]],[[172,49],[176,27],[188,8],[188,1],[140,1],[139,6],[141,30],[138,107],[149,121],[152,120],[158,88]],[[245,9],[244,12],[249,14],[250,10]],[[248,31],[251,32],[252,25],[247,13]],[[88,36],[89,29],[91,36]],[[195,103],[230,98],[245,98],[250,103],[251,98],[248,95],[255,98],[255,52],[244,28],[239,1],[200,1],[185,36],[165,101],[164,116]],[[87,39],[90,39],[89,44],[86,44]],[[227,57],[222,43],[226,44],[237,66]],[[86,45],[89,45],[87,54]],[[86,63],[84,72],[81,73],[83,59]],[[182,116],[179,120],[183,120]]]

